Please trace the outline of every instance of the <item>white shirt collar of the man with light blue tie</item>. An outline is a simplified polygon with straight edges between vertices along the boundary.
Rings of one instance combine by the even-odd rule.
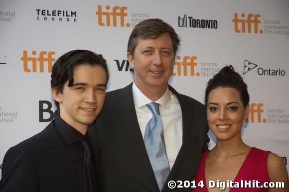
[[[144,106],[150,102],[159,103],[160,105],[164,106],[165,108],[169,108],[169,106],[170,106],[170,91],[169,91],[168,87],[166,88],[166,91],[163,94],[163,96],[161,96],[156,101],[152,101],[149,98],[147,98],[147,96],[145,96],[141,92],[141,90],[136,86],[135,82],[133,83],[132,91],[133,91],[133,96],[134,96],[134,102],[135,102],[135,105],[137,108],[140,108],[140,107],[142,107],[142,106]]]

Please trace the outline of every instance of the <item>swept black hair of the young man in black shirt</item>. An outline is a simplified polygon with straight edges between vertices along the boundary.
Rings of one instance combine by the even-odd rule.
[[[73,70],[79,65],[101,66],[106,72],[106,83],[108,83],[108,67],[101,54],[88,50],[72,50],[55,61],[51,73],[51,88],[55,88],[57,92],[62,93],[66,81],[68,81],[68,87],[73,86]],[[59,102],[54,101],[59,112]]]

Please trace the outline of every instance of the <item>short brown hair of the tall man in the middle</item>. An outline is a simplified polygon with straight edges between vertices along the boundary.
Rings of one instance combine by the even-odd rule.
[[[135,49],[141,38],[156,39],[163,33],[168,33],[170,35],[175,56],[178,45],[180,45],[179,36],[176,34],[172,26],[158,18],[146,19],[134,27],[128,42],[128,52],[134,56]]]

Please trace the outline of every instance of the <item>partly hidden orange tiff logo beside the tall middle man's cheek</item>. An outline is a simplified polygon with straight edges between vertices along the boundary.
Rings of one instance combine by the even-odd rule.
[[[177,60],[181,60],[181,56],[176,56]],[[198,64],[195,62],[196,56],[184,56],[182,61],[175,61],[173,65],[176,66],[176,72],[172,72],[172,76],[200,76],[200,73],[195,73],[195,66]],[[188,69],[189,68],[189,69]]]

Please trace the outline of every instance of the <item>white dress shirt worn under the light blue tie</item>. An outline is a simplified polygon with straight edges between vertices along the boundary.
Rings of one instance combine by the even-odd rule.
[[[159,103],[166,155],[171,170],[182,145],[182,112],[177,97],[167,88],[163,96],[156,101],[151,101],[144,96],[135,83],[133,84],[133,96],[143,139],[146,124],[152,117],[152,113],[146,104],[150,102]]]

